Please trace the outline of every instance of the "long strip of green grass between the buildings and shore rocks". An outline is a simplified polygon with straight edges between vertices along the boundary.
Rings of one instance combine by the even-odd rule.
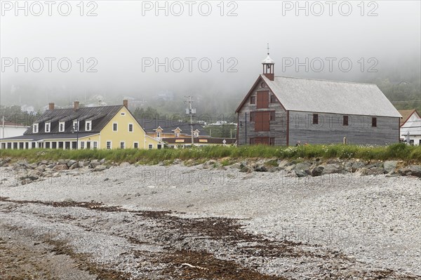
[[[142,164],[157,164],[159,161],[173,159],[230,159],[243,158],[272,158],[278,159],[309,159],[319,157],[323,159],[401,159],[405,161],[421,162],[421,147],[395,144],[390,146],[358,146],[358,145],[307,145],[300,147],[270,147],[264,145],[241,147],[194,147],[192,149],[4,149],[0,150],[0,157],[27,159],[40,161],[43,159],[106,159],[108,161]],[[225,161],[228,160],[226,159]]]

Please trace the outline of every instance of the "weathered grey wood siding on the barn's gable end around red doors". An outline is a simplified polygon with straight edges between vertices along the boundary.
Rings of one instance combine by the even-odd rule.
[[[281,104],[279,102],[269,102],[269,108],[256,109],[258,91],[269,91],[269,100],[270,95],[272,94],[272,91],[270,91],[269,88],[262,88],[261,82],[262,79],[260,79],[258,85],[255,86],[253,93],[250,95],[250,97],[255,96],[256,104],[250,104],[250,98],[248,98],[246,103],[239,110],[238,145],[248,145],[250,144],[250,138],[256,137],[275,138],[275,145],[286,145],[286,111]],[[275,111],[275,120],[270,121],[269,131],[255,131],[255,122],[250,121],[250,112],[264,111]]]

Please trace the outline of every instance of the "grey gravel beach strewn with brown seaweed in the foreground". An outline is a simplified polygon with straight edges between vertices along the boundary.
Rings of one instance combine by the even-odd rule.
[[[0,171],[1,263],[13,244],[55,263],[32,279],[421,279],[414,176],[126,165],[20,185]]]

